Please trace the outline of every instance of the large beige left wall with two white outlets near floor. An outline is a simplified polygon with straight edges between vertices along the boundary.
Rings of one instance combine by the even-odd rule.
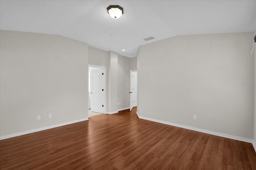
[[[86,43],[1,30],[0,75],[1,136],[87,118]]]

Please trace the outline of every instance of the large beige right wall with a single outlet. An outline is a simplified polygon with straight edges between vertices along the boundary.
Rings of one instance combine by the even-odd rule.
[[[176,36],[140,46],[139,115],[253,139],[254,33]],[[197,115],[197,119],[193,119]]]

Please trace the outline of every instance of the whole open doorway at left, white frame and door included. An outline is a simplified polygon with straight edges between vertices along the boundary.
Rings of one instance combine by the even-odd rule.
[[[106,113],[106,67],[88,65],[88,117]]]

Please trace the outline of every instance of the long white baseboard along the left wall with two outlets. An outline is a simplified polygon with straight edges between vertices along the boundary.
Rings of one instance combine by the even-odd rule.
[[[21,135],[24,135],[24,134],[39,132],[39,131],[47,130],[47,129],[50,129],[50,128],[61,127],[61,126],[64,126],[64,125],[69,125],[69,124],[78,123],[78,122],[82,122],[82,121],[88,121],[88,120],[89,120],[88,118],[78,119],[78,120],[75,120],[75,121],[59,123],[59,124],[50,125],[50,126],[47,126],[47,127],[35,128],[35,129],[32,129],[32,130],[26,130],[26,131],[23,131],[23,132],[7,134],[7,135],[4,135],[4,136],[0,136],[0,140],[7,139],[7,138],[12,138],[12,137],[16,137],[16,136],[21,136]]]

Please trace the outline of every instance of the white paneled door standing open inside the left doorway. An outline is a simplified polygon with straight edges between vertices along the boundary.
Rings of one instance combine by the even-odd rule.
[[[91,111],[102,113],[102,69],[91,70],[90,77]]]

